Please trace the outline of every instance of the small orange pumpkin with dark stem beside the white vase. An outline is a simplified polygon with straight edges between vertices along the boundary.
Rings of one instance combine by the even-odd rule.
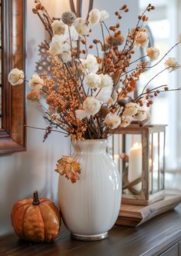
[[[33,200],[22,199],[13,206],[12,226],[19,238],[32,242],[49,242],[60,230],[60,212],[48,198],[38,199],[38,191],[35,191]]]

